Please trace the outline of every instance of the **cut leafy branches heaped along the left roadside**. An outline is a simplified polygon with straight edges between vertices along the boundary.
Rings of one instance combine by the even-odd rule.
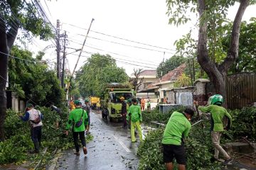
[[[58,149],[68,149],[73,147],[73,137],[68,137],[63,133],[65,125],[68,121],[68,109],[62,108],[61,115],[55,111],[50,111],[50,108],[36,108],[43,113],[43,147],[48,147],[48,153],[44,159],[51,157],[51,152]],[[59,128],[56,127],[56,122],[59,123]],[[33,142],[30,136],[30,125],[24,123],[18,118],[18,113],[8,110],[6,121],[4,123],[6,140],[0,142],[0,164],[16,163],[21,164],[28,159],[42,159],[41,154],[31,157],[28,154],[29,149],[33,149]],[[87,135],[86,141],[90,142],[93,139],[92,135]],[[48,155],[48,156],[47,156]],[[46,162],[47,164],[48,162]]]

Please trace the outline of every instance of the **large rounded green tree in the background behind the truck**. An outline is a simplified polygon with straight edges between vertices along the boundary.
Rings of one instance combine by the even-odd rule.
[[[100,96],[102,89],[109,83],[124,83],[128,76],[124,69],[117,67],[110,55],[92,55],[86,64],[76,73],[76,81],[80,94],[86,96]]]

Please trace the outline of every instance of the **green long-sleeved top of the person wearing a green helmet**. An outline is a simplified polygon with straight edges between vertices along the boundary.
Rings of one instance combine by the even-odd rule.
[[[223,117],[227,116],[230,120],[230,127],[232,125],[232,118],[231,115],[228,113],[228,111],[217,105],[210,105],[210,106],[198,106],[198,110],[202,112],[210,112],[211,115],[211,121],[212,121],[212,127],[211,130],[215,132],[223,132]]]

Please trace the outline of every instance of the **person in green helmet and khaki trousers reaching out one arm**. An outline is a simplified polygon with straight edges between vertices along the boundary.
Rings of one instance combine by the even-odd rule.
[[[210,106],[198,106],[198,102],[195,102],[196,107],[198,107],[198,110],[202,112],[210,112],[211,115],[211,125],[210,125],[210,135],[211,135],[211,140],[213,143],[213,147],[215,148],[215,154],[214,154],[214,159],[218,160],[218,155],[219,152],[223,154],[225,157],[225,162],[224,164],[228,164],[229,162],[232,161],[230,155],[228,155],[227,152],[223,149],[223,147],[220,146],[220,136],[224,129],[229,129],[231,127],[231,116],[228,113],[228,111],[222,107],[223,104],[223,96],[220,94],[215,94],[212,99]],[[223,117],[226,116],[228,118],[228,126],[226,128],[223,127]]]

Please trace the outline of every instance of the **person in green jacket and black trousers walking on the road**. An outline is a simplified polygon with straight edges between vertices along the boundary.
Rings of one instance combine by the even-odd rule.
[[[79,152],[80,145],[78,145],[78,135],[82,142],[82,150],[84,154],[87,154],[87,148],[86,148],[86,142],[85,142],[85,127],[87,126],[87,123],[88,123],[87,113],[85,110],[81,108],[80,101],[76,100],[74,101],[74,104],[75,104],[75,109],[73,109],[70,112],[65,134],[68,135],[68,130],[72,126],[73,140],[75,144],[74,154],[76,155],[80,154]]]

